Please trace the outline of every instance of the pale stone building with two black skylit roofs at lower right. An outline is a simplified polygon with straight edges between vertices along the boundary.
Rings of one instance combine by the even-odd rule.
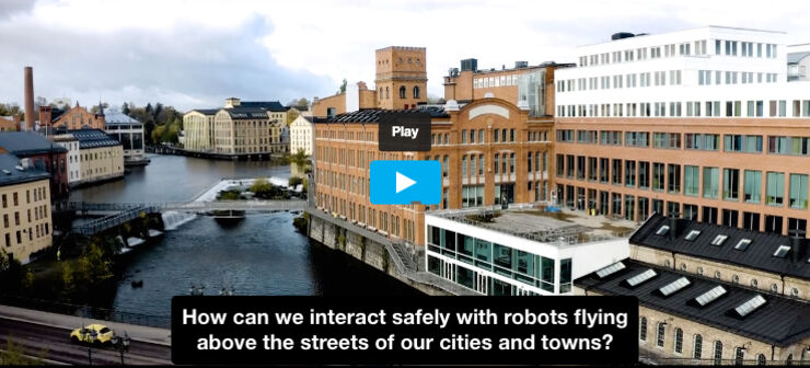
[[[641,360],[802,365],[810,359],[810,243],[803,237],[652,215],[630,256],[575,294],[639,299]]]

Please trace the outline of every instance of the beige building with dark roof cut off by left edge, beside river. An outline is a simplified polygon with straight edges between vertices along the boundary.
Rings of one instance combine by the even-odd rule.
[[[0,153],[0,244],[22,264],[51,245],[49,177],[31,159]]]

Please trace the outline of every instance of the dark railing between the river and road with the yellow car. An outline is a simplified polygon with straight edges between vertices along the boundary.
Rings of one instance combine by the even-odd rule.
[[[150,315],[143,313],[125,312],[115,309],[71,304],[53,300],[31,299],[8,295],[0,295],[0,303],[5,306],[38,310],[43,312],[76,315],[102,321],[146,325],[161,329],[170,329],[172,326],[172,319],[169,315]]]

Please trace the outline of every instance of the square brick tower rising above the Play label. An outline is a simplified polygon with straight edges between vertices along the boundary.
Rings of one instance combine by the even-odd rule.
[[[428,101],[425,47],[390,46],[378,49],[377,105],[381,108],[413,108]]]

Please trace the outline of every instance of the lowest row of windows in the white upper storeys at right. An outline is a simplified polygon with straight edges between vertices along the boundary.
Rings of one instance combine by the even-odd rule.
[[[788,112],[788,106],[790,112]],[[703,107],[703,108],[702,108]],[[744,115],[743,115],[744,112]],[[559,117],[810,117],[810,100],[687,101],[557,105]]]

